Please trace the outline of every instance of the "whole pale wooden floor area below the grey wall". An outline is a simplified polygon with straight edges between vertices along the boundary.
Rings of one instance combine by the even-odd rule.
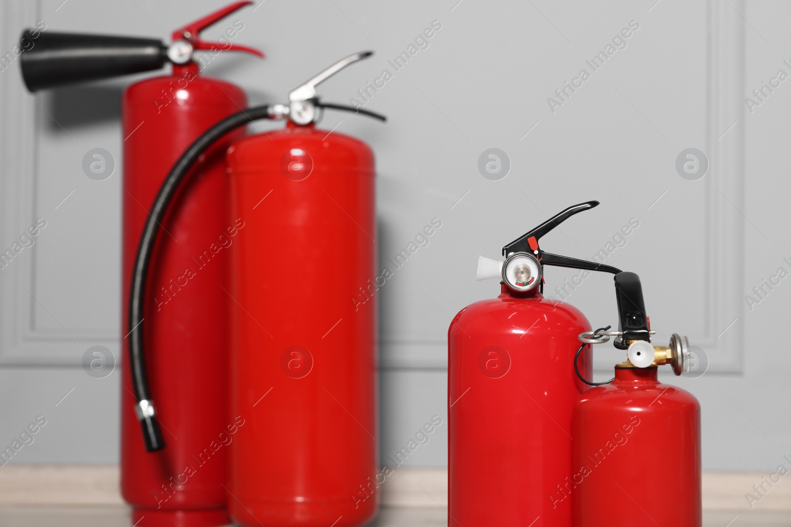
[[[763,476],[703,472],[704,527],[791,527],[787,484],[775,485],[749,508],[744,493]],[[381,487],[384,507],[369,527],[446,525],[447,483],[445,469],[399,469]],[[0,470],[0,527],[130,527],[128,516],[117,466],[9,464]]]

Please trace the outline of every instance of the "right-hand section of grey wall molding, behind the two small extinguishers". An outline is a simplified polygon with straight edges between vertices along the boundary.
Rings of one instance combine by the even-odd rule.
[[[732,2],[744,13],[744,0]],[[691,344],[709,359],[708,371],[741,373],[744,366],[744,21],[731,6],[708,0],[706,50],[706,137],[709,156],[703,258],[706,314],[703,334]],[[725,130],[728,134],[722,136]],[[685,262],[682,257],[680,262]],[[664,343],[661,343],[664,344]],[[447,343],[389,341],[380,343],[383,369],[447,368]],[[596,367],[611,373],[612,367]]]

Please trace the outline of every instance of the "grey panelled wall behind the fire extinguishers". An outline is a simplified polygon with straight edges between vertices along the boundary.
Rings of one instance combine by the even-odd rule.
[[[252,104],[285,102],[291,88],[354,51],[377,55],[327,81],[325,100],[347,102],[382,70],[392,73],[366,104],[391,118],[386,125],[337,113],[322,123],[377,152],[381,259],[432,218],[442,221],[429,246],[380,289],[383,456],[434,414],[445,416],[450,318],[498,293],[494,282],[475,282],[478,254],[495,258],[547,216],[589,199],[602,205],[543,247],[592,258],[639,221],[607,263],[641,274],[657,341],[685,333],[708,360],[701,377],[668,379],[702,403],[704,467],[770,469],[791,453],[782,411],[791,395],[782,335],[791,286],[782,280],[751,307],[744,298],[778,267],[791,271],[783,261],[791,261],[789,183],[778,177],[788,172],[791,81],[752,112],[744,102],[778,69],[791,73],[783,63],[791,58],[784,27],[791,6],[654,1],[267,0],[205,33],[217,36],[240,20],[237,41],[266,51],[265,61],[228,53],[206,68],[242,85]],[[8,0],[0,43],[10,51],[37,20],[51,31],[165,38],[221,4]],[[441,29],[428,47],[395,71],[388,60],[433,21]],[[639,28],[626,47],[592,71],[585,61],[630,21]],[[591,77],[553,111],[547,98],[581,69]],[[37,217],[47,220],[36,244],[0,270],[0,445],[36,416],[47,418],[15,462],[117,459],[118,371],[91,378],[80,364],[93,345],[119,353],[120,173],[93,181],[81,159],[100,147],[120,163],[116,115],[125,84],[33,100],[21,88],[18,59],[0,73],[0,248]],[[504,179],[479,173],[490,148],[509,158]],[[676,171],[688,148],[706,153],[702,179]],[[547,292],[572,276],[548,269]],[[569,301],[594,326],[616,322],[607,277],[585,280]],[[607,346],[596,353],[596,375],[604,377],[620,356]],[[441,427],[409,463],[445,465],[445,434]]]

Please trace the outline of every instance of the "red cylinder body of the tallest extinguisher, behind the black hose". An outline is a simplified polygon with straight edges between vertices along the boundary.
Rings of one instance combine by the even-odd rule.
[[[185,149],[221,119],[246,107],[235,85],[197,76],[195,66],[140,81],[123,96],[123,335],[129,284],[143,225],[162,182]],[[225,525],[228,250],[225,149],[206,153],[162,224],[149,273],[142,324],[146,369],[165,450],[147,453],[123,353],[121,491],[132,523]],[[123,341],[128,346],[128,339]],[[225,433],[223,437],[220,435]]]

